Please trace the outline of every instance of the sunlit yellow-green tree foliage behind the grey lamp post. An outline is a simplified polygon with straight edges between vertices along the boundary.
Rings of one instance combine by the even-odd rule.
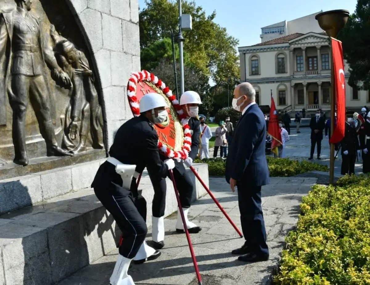
[[[141,48],[169,38],[172,30],[175,34],[178,32],[177,1],[147,0],[145,4],[147,7],[139,13]],[[235,50],[238,40],[213,22],[216,13],[206,16],[202,7],[188,1],[182,1],[182,13],[192,16],[192,30],[183,32],[184,51],[189,54],[189,60],[196,70],[211,76],[217,86],[225,85],[228,76],[239,78],[239,61]]]

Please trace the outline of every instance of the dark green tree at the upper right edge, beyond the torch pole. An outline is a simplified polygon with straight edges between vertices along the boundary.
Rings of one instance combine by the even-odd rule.
[[[350,67],[349,85],[369,90],[370,87],[370,0],[358,0],[355,12],[339,33],[343,55]]]

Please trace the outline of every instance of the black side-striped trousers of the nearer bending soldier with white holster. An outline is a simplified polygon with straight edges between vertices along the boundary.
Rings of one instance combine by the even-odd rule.
[[[110,164],[110,162],[104,162],[104,164]],[[102,164],[98,172],[103,171],[104,166]],[[139,251],[148,232],[145,222],[147,205],[143,197],[134,198],[130,190],[122,187],[120,179],[118,175],[117,179],[108,182],[105,187],[97,183],[94,185],[94,192],[101,204],[111,213],[123,234],[124,241],[119,248],[120,255],[132,259]]]

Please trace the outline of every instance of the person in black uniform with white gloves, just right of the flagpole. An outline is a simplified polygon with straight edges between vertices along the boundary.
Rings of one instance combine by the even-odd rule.
[[[357,140],[356,128],[351,124],[352,118],[348,118],[344,129],[344,138],[340,142],[342,149],[342,168],[340,174],[354,174],[354,164],[357,152],[360,151],[359,140]]]

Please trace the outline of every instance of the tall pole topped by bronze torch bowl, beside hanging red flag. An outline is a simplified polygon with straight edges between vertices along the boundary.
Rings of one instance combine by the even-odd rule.
[[[347,24],[349,17],[349,11],[347,10],[331,10],[319,13],[315,16],[315,19],[319,22],[320,28],[322,28],[329,37],[337,38],[338,33]],[[333,47],[330,46],[332,53],[332,98],[331,98],[331,114],[330,114],[330,137],[333,136],[334,132],[334,121],[335,121],[335,74],[334,74],[334,60],[333,60]],[[319,60],[319,59],[318,59]],[[329,183],[334,184],[334,144],[330,144],[330,169],[329,169]]]

